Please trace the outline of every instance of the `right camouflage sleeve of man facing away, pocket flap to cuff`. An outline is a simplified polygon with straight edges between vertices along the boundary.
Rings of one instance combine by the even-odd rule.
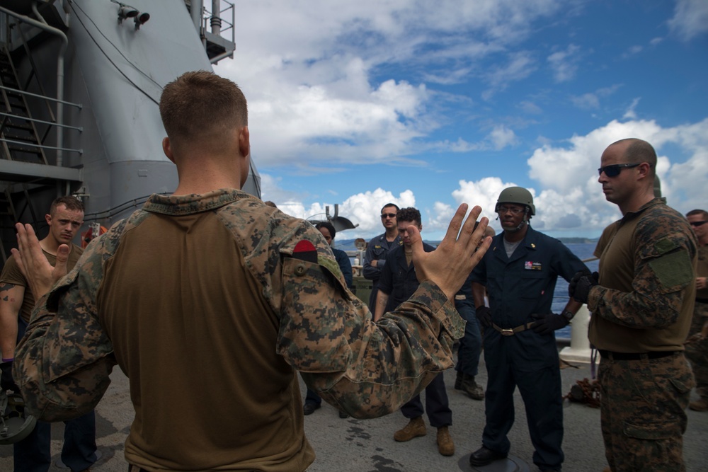
[[[284,258],[278,353],[307,385],[355,418],[392,413],[452,367],[464,321],[424,282],[396,311],[372,321],[367,306],[326,265]]]

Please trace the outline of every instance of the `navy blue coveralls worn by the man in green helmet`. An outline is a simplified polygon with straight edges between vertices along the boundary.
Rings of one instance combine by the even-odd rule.
[[[486,286],[493,323],[515,328],[535,321],[534,313],[551,313],[559,275],[570,281],[587,267],[563,243],[530,226],[510,258],[503,238],[503,232],[493,238],[472,271],[472,281]],[[559,469],[564,459],[563,400],[554,333],[539,335],[529,329],[504,336],[485,328],[484,361],[488,380],[482,444],[508,453],[507,433],[514,422],[513,393],[518,386],[535,447],[534,464],[542,470]]]

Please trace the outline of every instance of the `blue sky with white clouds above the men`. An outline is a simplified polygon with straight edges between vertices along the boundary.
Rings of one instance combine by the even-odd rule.
[[[382,231],[395,202],[440,238],[460,202],[529,188],[532,226],[599,236],[621,215],[600,154],[657,150],[669,205],[708,207],[706,0],[259,0],[215,71],[249,100],[263,200]],[[499,229],[498,222],[492,226]]]

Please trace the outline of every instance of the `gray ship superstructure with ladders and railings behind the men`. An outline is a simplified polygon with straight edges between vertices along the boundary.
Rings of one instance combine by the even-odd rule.
[[[230,36],[230,38],[229,38]],[[177,185],[161,148],[162,88],[232,57],[234,5],[195,0],[5,0],[0,3],[0,253],[16,221],[60,195],[110,227]],[[251,163],[244,188],[260,197]]]

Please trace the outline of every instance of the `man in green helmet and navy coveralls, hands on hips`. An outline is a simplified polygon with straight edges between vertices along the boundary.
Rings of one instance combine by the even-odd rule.
[[[484,326],[487,381],[482,447],[472,466],[485,466],[508,455],[507,433],[514,422],[513,393],[523,397],[534,464],[559,471],[564,455],[561,374],[554,331],[568,325],[581,304],[569,300],[561,314],[551,311],[558,276],[570,281],[587,267],[557,239],[531,228],[536,214],[531,192],[502,190],[495,211],[503,231],[492,240],[472,271],[472,291]],[[484,305],[485,289],[489,307]]]

